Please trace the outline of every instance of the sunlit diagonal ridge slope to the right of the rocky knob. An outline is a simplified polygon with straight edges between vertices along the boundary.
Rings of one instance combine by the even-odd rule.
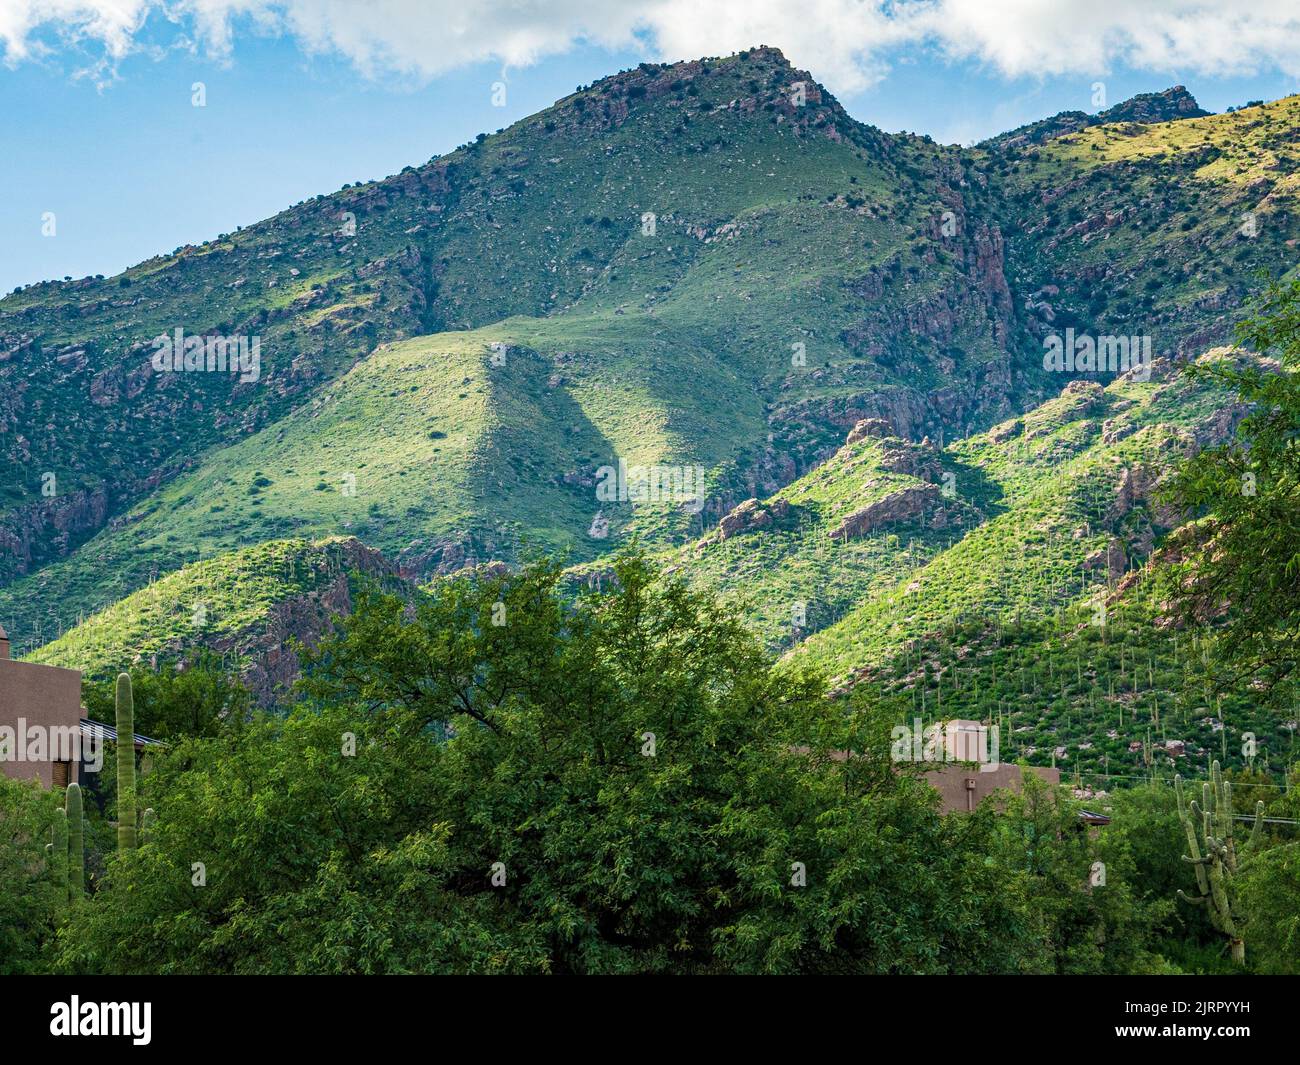
[[[1148,524],[1144,515],[1108,520],[1123,469],[1164,466],[1223,402],[1178,378],[1117,381],[1096,394],[1049,401],[1001,442],[994,437],[1004,427],[953,445],[949,455],[971,471],[971,502],[988,520],[932,562],[901,573],[888,590],[861,599],[811,636],[803,651],[845,672],[957,618],[1049,611],[1104,588],[1105,570],[1086,572],[1084,559]],[[1117,430],[1113,442],[1104,440],[1108,421]],[[958,475],[957,492],[965,490]],[[1132,546],[1124,546],[1130,563],[1140,560]]]

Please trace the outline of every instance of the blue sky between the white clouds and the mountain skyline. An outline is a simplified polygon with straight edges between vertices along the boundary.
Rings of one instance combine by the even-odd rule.
[[[845,16],[840,9],[848,1],[823,0],[824,36],[845,36],[836,34],[835,20],[859,10]],[[203,8],[220,0],[186,3]],[[975,39],[985,34],[987,40],[971,47],[970,35],[956,46],[933,34],[879,44],[872,38],[870,47],[848,53],[822,48],[822,38],[803,26],[789,29],[798,38],[792,47],[779,38],[779,21],[748,31],[733,26],[731,36],[718,38],[716,27],[693,29],[685,16],[673,22],[671,0],[650,29],[638,22],[627,33],[621,26],[571,30],[560,25],[575,17],[568,12],[556,14],[552,38],[543,18],[541,33],[534,25],[506,43],[498,42],[514,25],[511,13],[489,5],[498,10],[473,26],[481,40],[465,44],[462,34],[456,43],[464,47],[438,51],[400,25],[402,18],[436,18],[432,5],[412,14],[400,0],[390,3],[396,4],[391,36],[376,44],[359,38],[355,25],[322,31],[302,18],[294,27],[234,18],[224,39],[205,39],[195,25],[157,14],[142,16],[122,38],[98,25],[42,25],[30,17],[38,0],[0,0],[0,291],[64,276],[110,276],[344,182],[419,165],[644,60],[775,44],[827,82],[854,117],[944,142],[975,140],[1058,111],[1096,111],[1095,82],[1105,85],[1106,104],[1184,83],[1210,111],[1300,87],[1294,70],[1280,69],[1288,64],[1260,56],[1258,46],[1245,52],[1253,62],[1226,56],[1206,64],[1200,52],[1190,59],[1169,47],[1112,53],[1101,35],[1101,51],[1088,55],[1084,42],[1082,60],[1074,52],[1062,59],[1052,38],[1061,33],[1058,22],[1039,27],[1037,36],[980,25]],[[26,23],[5,10],[25,4]],[[495,29],[489,14],[498,20]],[[445,10],[443,17],[452,16]],[[419,29],[437,42],[437,26],[421,22]],[[325,43],[322,33],[332,35]],[[454,26],[448,33],[459,34]],[[1135,40],[1140,33],[1131,30]],[[415,42],[408,52],[404,40]],[[498,81],[507,85],[504,107],[491,101]],[[191,104],[194,82],[205,86],[205,107]],[[55,215],[53,237],[42,233],[46,212]]]

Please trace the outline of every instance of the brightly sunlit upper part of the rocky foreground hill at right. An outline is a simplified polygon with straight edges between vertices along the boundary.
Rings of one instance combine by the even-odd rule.
[[[1082,564],[1112,540],[1140,564],[1147,505],[1108,519],[1122,471],[1161,466],[1223,406],[1208,386],[1160,377],[1105,389],[1078,382],[1022,417],[949,445],[936,454],[937,476],[928,475],[936,484],[950,477],[941,523],[931,508],[866,536],[829,538],[845,514],[920,482],[881,469],[879,458],[885,446],[924,449],[867,438],[766,499],[790,505],[771,527],[664,558],[690,580],[742,597],[770,645],[798,641],[800,654],[836,676],[963,616],[1052,611],[1104,589],[1105,571]],[[794,603],[807,616],[798,633]]]

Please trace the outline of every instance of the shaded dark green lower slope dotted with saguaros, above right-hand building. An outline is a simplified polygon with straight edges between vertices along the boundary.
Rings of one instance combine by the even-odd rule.
[[[1167,623],[1154,575],[1135,571],[1117,592],[1050,614],[953,623],[861,684],[897,724],[996,724],[1004,762],[1056,766],[1088,792],[1204,776],[1212,761],[1284,779],[1300,714],[1245,690],[1216,693],[1204,633]]]

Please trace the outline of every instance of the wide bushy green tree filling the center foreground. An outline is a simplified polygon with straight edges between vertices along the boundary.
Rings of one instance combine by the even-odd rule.
[[[286,720],[161,759],[65,967],[1015,971],[1041,938],[991,815],[644,559],[370,596],[309,658]]]

